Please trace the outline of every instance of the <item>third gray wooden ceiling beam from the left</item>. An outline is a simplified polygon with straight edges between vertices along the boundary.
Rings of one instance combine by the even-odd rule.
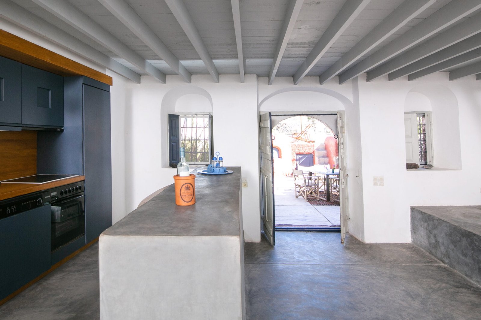
[[[190,72],[126,1],[99,0],[99,2],[164,60],[178,75],[190,83],[192,77]]]

